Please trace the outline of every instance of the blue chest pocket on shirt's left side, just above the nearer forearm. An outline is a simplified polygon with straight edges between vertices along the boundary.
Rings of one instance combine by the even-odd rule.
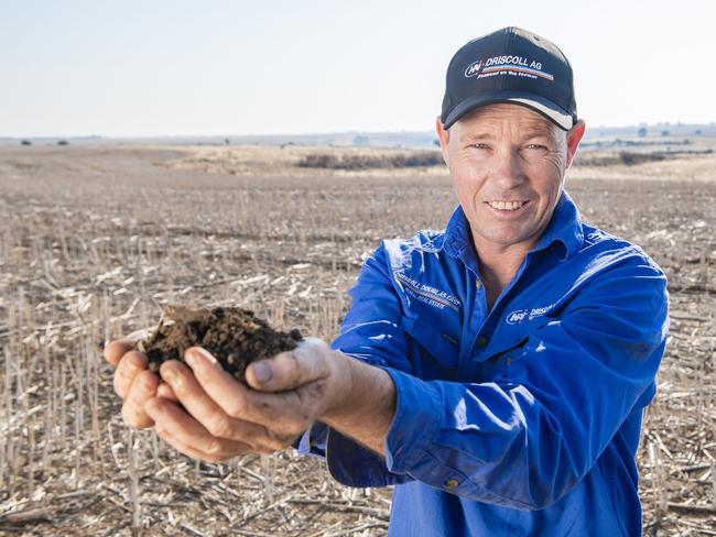
[[[412,340],[413,354],[419,354],[412,357],[419,376],[430,379],[442,374],[445,377],[446,370],[454,374],[459,361],[459,341],[455,337],[420,317],[403,317],[401,324]]]

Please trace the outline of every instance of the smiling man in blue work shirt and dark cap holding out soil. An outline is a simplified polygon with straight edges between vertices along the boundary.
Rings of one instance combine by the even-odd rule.
[[[381,243],[332,348],[252,364],[248,390],[202,349],[159,384],[113,342],[124,419],[208,461],[300,438],[341,483],[395,485],[391,535],[640,535],[666,281],[563,189],[585,130],[567,59],[517,28],[469,42],[436,129],[459,207]]]

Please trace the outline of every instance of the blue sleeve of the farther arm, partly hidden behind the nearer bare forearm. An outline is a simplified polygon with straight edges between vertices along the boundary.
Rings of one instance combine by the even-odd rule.
[[[352,304],[330,347],[356,360],[411,373],[408,341],[399,324],[402,304],[389,275],[386,243],[368,257],[349,295]],[[328,470],[348,486],[386,486],[412,481],[388,470],[386,459],[323,423],[294,443],[300,453],[325,457]]]

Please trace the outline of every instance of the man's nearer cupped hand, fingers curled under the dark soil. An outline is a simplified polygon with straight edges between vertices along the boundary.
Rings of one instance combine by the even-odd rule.
[[[209,462],[289,447],[347,387],[340,361],[323,341],[308,338],[291,352],[256,362],[238,382],[205,349],[186,351],[186,364],[164,362],[162,379],[180,407],[161,396],[143,410],[156,434],[178,451]],[[345,364],[344,364],[345,365]],[[332,391],[333,388],[333,391]]]

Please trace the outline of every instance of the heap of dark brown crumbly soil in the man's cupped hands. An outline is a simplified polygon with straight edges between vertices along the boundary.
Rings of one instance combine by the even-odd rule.
[[[167,360],[184,361],[184,351],[199,346],[209,351],[231,375],[245,382],[246,368],[257,360],[295,349],[301,332],[280,332],[242,308],[166,306],[159,327],[138,344],[152,371]]]

